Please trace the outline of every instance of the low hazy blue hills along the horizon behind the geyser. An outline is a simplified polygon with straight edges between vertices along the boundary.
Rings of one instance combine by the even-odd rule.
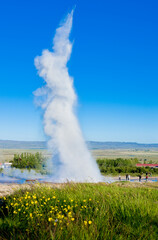
[[[158,149],[158,144],[142,144],[136,142],[95,142],[88,141],[89,149]],[[11,141],[0,140],[0,149],[46,149],[44,141]]]

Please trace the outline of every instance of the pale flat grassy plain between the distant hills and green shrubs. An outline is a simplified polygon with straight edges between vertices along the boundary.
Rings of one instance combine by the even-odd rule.
[[[41,152],[46,157],[51,157],[51,153],[43,149],[0,149],[0,162],[9,161],[13,159],[14,154],[20,154],[23,152],[36,153]],[[138,158],[139,160],[147,161],[152,160],[158,163],[158,150],[136,150],[136,149],[109,149],[109,150],[91,150],[94,158]]]

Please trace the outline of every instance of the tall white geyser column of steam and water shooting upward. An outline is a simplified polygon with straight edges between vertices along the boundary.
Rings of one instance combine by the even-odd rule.
[[[73,11],[56,29],[53,51],[44,50],[35,58],[38,74],[45,86],[35,91],[42,97],[44,131],[50,138],[52,149],[52,181],[98,182],[102,180],[95,160],[84,142],[78,120],[74,114],[76,94],[73,78],[69,76],[67,62],[72,51],[69,35]]]

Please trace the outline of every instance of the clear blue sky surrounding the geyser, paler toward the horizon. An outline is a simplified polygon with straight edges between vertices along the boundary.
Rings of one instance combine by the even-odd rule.
[[[0,3],[0,139],[44,140],[34,58],[76,5],[69,73],[86,140],[158,142],[158,2]]]

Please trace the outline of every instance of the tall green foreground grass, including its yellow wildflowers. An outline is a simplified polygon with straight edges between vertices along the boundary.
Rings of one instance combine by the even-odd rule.
[[[1,200],[0,239],[158,239],[157,185],[131,186],[36,185],[15,192]]]

